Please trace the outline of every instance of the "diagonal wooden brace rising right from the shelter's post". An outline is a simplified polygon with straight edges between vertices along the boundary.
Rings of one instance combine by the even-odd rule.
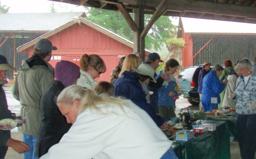
[[[162,0],[161,1],[161,3],[159,4],[159,7],[156,9],[156,11],[154,12],[153,16],[151,17],[149,23],[146,25],[146,27],[142,31],[141,38],[145,38],[146,37],[146,34],[150,30],[150,28],[153,26],[154,22],[157,21],[158,18],[163,15],[163,13],[165,13],[165,11],[166,11],[166,4],[167,4],[167,0]]]

